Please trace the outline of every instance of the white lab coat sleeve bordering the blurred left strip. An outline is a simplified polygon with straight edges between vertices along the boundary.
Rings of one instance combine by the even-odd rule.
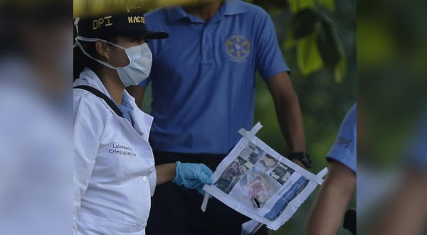
[[[103,124],[100,115],[95,113],[96,109],[88,104],[85,97],[74,102],[73,111],[73,231],[76,234],[77,214],[95,165]]]

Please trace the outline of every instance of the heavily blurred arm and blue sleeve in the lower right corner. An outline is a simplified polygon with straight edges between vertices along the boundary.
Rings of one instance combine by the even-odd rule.
[[[384,195],[384,209],[375,219],[374,234],[418,235],[427,232],[427,114],[406,148],[398,185]]]

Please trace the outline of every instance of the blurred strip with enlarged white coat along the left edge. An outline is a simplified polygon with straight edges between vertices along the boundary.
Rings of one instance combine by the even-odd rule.
[[[73,232],[72,11],[0,3],[0,234]]]

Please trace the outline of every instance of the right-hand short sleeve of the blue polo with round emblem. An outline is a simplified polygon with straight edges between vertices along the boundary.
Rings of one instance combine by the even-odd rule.
[[[258,33],[255,39],[256,69],[264,80],[280,72],[289,72],[283,59],[273,21],[264,10],[260,17]]]

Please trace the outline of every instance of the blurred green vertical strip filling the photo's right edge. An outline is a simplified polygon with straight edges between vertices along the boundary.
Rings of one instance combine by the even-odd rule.
[[[426,1],[357,1],[357,226],[426,234]]]

